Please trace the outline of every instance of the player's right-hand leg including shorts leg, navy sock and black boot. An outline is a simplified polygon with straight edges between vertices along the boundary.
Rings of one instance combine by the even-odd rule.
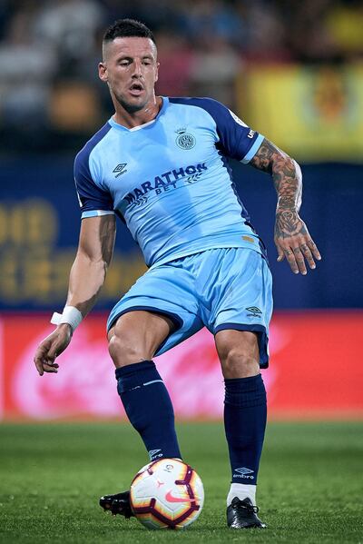
[[[232,472],[228,512],[231,501],[239,501],[233,509],[236,523],[230,518],[228,523],[236,529],[261,527],[253,509],[266,425],[266,391],[260,367],[267,367],[269,361],[271,275],[260,253],[253,250],[215,250],[212,259],[209,269],[217,272],[208,277],[211,312],[207,326],[215,335],[225,378],[224,420]],[[243,500],[249,511],[240,504]]]

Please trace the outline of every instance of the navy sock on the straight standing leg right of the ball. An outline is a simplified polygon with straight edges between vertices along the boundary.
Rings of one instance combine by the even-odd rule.
[[[232,483],[256,485],[266,428],[266,390],[262,376],[225,380],[224,427]]]

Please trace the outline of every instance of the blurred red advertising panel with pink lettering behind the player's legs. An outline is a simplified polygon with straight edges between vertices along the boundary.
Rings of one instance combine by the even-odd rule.
[[[59,357],[58,374],[40,378],[34,351],[54,330],[47,316],[0,320],[0,418],[124,417],[105,338],[105,316],[89,316]],[[363,312],[276,313],[270,368],[262,371],[270,418],[363,417],[358,339]],[[223,379],[211,334],[203,330],[155,360],[177,418],[219,419]]]

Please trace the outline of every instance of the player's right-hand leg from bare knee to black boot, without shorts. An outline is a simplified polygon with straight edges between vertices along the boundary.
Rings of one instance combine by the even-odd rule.
[[[257,334],[250,331],[221,330],[215,336],[225,382],[224,425],[231,460],[231,489],[227,497],[229,524],[246,520],[259,526],[254,515],[256,484],[266,427],[266,391],[260,375],[260,351]],[[242,519],[233,519],[235,498]],[[235,501],[236,507],[240,505]],[[250,507],[250,508],[249,508]],[[247,508],[247,509],[246,509]]]

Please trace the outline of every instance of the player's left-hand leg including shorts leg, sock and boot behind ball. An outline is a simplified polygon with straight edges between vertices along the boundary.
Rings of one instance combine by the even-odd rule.
[[[117,302],[108,320],[118,391],[151,460],[181,458],[172,403],[152,357],[170,350],[203,326],[192,284],[193,276],[184,269],[182,260],[150,269]],[[105,495],[100,505],[130,518],[129,497],[129,491]]]

